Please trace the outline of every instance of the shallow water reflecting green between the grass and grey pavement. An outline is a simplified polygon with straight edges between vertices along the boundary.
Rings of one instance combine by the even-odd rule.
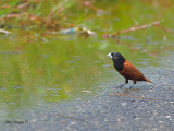
[[[107,57],[110,51],[124,53],[139,69],[173,66],[171,57],[163,57],[170,53],[167,50],[152,56],[150,51],[134,52],[121,44],[107,40],[104,44],[107,46],[100,50],[102,44],[98,37],[71,41],[55,39],[49,43],[29,43],[17,51],[1,51],[0,102],[3,105],[2,114],[7,114],[1,119],[15,118],[14,111],[20,108],[33,109],[40,102],[60,103],[96,95],[113,80],[123,83],[124,79],[116,73],[112,61]],[[138,45],[145,49],[142,44]],[[173,45],[166,45],[169,48],[171,46]],[[160,48],[160,45],[157,47]],[[148,73],[145,71],[144,74]]]

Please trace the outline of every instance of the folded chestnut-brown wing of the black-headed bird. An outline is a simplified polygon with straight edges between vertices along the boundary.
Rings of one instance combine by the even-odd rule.
[[[129,73],[134,73],[134,75],[144,76],[144,74],[138,69],[136,69],[128,60],[124,62],[124,69]]]

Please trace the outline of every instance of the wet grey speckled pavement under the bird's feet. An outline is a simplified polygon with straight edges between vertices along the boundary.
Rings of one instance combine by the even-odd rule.
[[[24,120],[2,121],[7,131],[173,131],[174,71],[160,68],[149,72],[153,84],[119,86],[114,79],[97,95],[87,99],[38,106]],[[147,74],[147,73],[146,73]],[[104,85],[102,85],[104,84]]]

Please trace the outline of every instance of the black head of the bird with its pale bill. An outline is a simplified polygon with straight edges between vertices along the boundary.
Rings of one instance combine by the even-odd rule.
[[[123,63],[125,62],[126,59],[120,52],[110,52],[108,57],[110,57],[113,60],[114,68],[117,71],[123,70],[124,68]]]

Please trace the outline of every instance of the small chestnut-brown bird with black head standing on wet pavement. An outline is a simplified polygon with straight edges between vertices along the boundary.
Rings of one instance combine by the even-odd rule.
[[[134,84],[136,84],[137,81],[147,81],[152,83],[120,52],[110,52],[107,56],[113,60],[113,66],[116,71],[125,78],[125,84],[128,83],[128,80],[133,80]]]

